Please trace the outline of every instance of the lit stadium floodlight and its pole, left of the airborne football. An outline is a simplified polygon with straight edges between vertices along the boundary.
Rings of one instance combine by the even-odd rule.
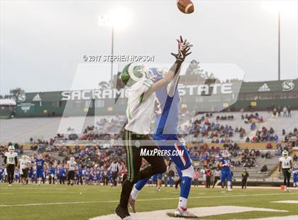
[[[115,9],[112,13],[99,16],[99,26],[111,27],[111,55],[114,55],[114,28],[122,29],[131,21],[131,13],[125,9]],[[111,86],[113,86],[113,59],[111,59]]]

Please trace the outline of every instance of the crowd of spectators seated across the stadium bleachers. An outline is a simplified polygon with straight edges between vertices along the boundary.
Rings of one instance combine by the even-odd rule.
[[[182,108],[182,118],[188,119],[194,113]],[[290,111],[287,111],[287,116],[290,116]],[[278,114],[278,113],[277,113]],[[189,147],[190,158],[194,161],[199,161],[202,167],[208,167],[215,169],[219,163],[221,157],[221,148],[216,146],[216,143],[223,143],[223,148],[228,150],[231,155],[232,165],[235,167],[255,167],[257,158],[270,159],[275,156],[281,156],[282,150],[290,150],[297,141],[297,128],[292,131],[286,131],[283,129],[281,135],[285,137],[281,140],[281,137],[270,126],[260,126],[264,123],[265,119],[258,113],[255,114],[242,114],[241,120],[244,124],[250,125],[250,130],[255,132],[252,137],[247,136],[244,126],[238,125],[236,128],[229,125],[229,122],[235,120],[233,114],[221,114],[214,116],[213,114],[204,114],[197,116],[192,121],[189,119],[189,123],[180,126],[180,137],[192,134],[194,138],[208,138],[209,142],[213,143],[209,146],[207,143],[193,143]],[[52,169],[56,169],[57,179],[60,177],[60,170],[65,169],[65,163],[69,160],[70,156],[75,157],[75,160],[79,164],[79,167],[83,170],[87,170],[89,177],[84,177],[84,180],[90,180],[90,183],[100,182],[103,179],[97,180],[98,176],[109,177],[109,165],[111,161],[116,159],[121,164],[123,172],[125,172],[125,150],[122,146],[109,145],[86,145],[70,147],[67,145],[56,145],[56,141],[60,140],[81,140],[81,141],[93,141],[93,140],[109,140],[111,138],[121,138],[121,128],[123,127],[126,119],[124,116],[110,117],[109,119],[101,118],[94,126],[87,126],[82,135],[76,133],[57,134],[57,136],[50,138],[50,140],[35,140],[31,138],[31,150],[33,150],[33,158],[37,153],[43,153],[43,156]],[[72,131],[72,128],[69,128]],[[233,137],[239,135],[240,138],[244,138],[246,142],[259,143],[267,142],[267,150],[248,150],[242,149],[237,143],[233,141]],[[288,143],[291,140],[294,142]],[[280,142],[278,142],[280,141]],[[276,142],[274,148],[272,142]],[[214,145],[215,143],[215,145]],[[294,144],[293,144],[294,143]],[[16,146],[16,151],[19,155],[23,154],[22,146]],[[4,155],[6,147],[0,146],[0,156]],[[297,155],[293,156],[293,160],[297,161]],[[263,172],[267,170],[261,168]],[[62,172],[62,171],[61,171]],[[96,177],[97,175],[97,177]],[[109,179],[109,178],[108,178]],[[119,179],[120,181],[121,179]],[[87,183],[89,183],[87,182]]]

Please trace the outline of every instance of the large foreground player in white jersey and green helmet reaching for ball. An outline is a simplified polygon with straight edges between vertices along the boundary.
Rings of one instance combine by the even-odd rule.
[[[151,140],[150,122],[155,109],[155,91],[169,84],[180,70],[184,58],[189,54],[189,43],[186,40],[178,41],[178,53],[175,55],[176,61],[169,72],[154,82],[145,65],[132,63],[127,65],[121,73],[121,80],[128,86],[128,107],[126,115],[128,123],[125,127],[125,147],[126,147],[126,167],[127,177],[122,185],[120,204],[116,207],[115,213],[121,219],[131,219],[128,212],[128,199],[133,189],[133,185],[142,179],[147,179],[155,174],[165,172],[167,167],[162,156],[141,156],[141,149],[160,150]],[[145,144],[144,144],[145,143]],[[142,158],[150,163],[150,166],[140,171]]]

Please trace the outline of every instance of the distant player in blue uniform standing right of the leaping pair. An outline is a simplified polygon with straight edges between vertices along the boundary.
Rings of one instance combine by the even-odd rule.
[[[228,158],[228,152],[223,151],[223,157],[219,158],[219,167],[221,167],[221,187],[223,187],[226,179],[228,180],[228,191],[232,191],[231,182],[232,182],[232,173],[231,173],[231,159]]]

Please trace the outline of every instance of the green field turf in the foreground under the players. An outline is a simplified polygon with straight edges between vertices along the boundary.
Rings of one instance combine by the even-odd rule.
[[[0,219],[89,219],[112,214],[118,204],[121,187],[67,185],[0,185]],[[140,193],[137,211],[175,209],[179,189],[145,187]],[[148,200],[147,200],[148,199]],[[270,203],[279,200],[298,200],[298,192],[290,193],[278,189],[233,189],[222,192],[221,188],[192,188],[188,207],[214,207],[236,205],[282,209],[289,212],[249,211],[224,214],[204,219],[249,219],[268,216],[298,214],[298,204]],[[18,205],[18,206],[5,206]],[[148,216],[150,219],[150,216]],[[173,218],[175,219],[175,218]],[[156,220],[156,219],[155,219]]]

